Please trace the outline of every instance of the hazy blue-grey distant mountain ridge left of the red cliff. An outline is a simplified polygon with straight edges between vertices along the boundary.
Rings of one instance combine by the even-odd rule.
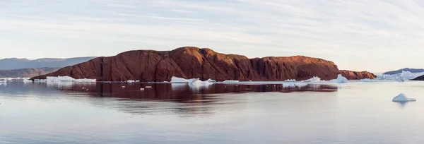
[[[86,62],[95,57],[76,57],[69,59],[54,59],[54,58],[43,58],[43,59],[0,59],[0,70],[16,70],[22,68],[63,68],[65,66],[72,66]]]

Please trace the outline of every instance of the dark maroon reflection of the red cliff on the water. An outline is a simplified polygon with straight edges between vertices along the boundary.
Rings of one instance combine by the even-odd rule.
[[[170,100],[189,102],[196,95],[241,92],[334,92],[335,85],[310,84],[303,88],[283,88],[282,85],[213,84],[193,87],[187,83],[73,83],[55,86],[64,92],[87,92],[96,97],[119,97],[139,100]],[[140,90],[143,88],[144,90]]]

